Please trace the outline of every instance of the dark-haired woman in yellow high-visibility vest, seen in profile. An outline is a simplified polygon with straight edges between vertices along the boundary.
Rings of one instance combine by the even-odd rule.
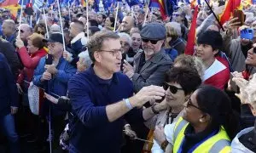
[[[238,116],[224,91],[203,86],[185,103],[183,117],[166,125],[166,140],[160,140],[161,152],[166,146],[174,153],[228,153],[230,140],[238,132]]]

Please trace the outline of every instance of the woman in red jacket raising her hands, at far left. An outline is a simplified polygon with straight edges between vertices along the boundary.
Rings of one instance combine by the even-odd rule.
[[[22,120],[22,126],[24,126],[24,135],[30,134],[30,141],[35,141],[38,137],[38,116],[33,116],[32,112],[28,107],[28,96],[27,89],[29,87],[29,82],[32,82],[32,77],[34,70],[38,66],[39,60],[47,54],[45,44],[42,41],[44,37],[38,33],[33,33],[31,36],[27,37],[27,49],[24,46],[24,42],[18,37],[16,39],[15,45],[18,49],[18,54],[24,69],[20,71],[20,75],[17,81],[17,88],[20,94],[22,94],[21,99],[21,109],[22,112],[19,115]]]

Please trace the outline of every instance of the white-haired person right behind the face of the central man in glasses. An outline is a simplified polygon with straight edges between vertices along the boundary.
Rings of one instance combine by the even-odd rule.
[[[131,37],[125,33],[125,32],[121,32],[119,33],[119,39],[120,39],[120,43],[121,43],[121,50],[123,53],[123,60],[126,60],[127,62],[130,63],[130,65],[133,65],[133,57],[136,54],[136,52],[134,52],[131,48]],[[122,70],[122,68],[121,68]]]

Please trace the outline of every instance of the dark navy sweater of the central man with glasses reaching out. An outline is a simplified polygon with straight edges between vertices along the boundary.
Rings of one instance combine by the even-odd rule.
[[[70,146],[75,152],[118,153],[122,144],[124,119],[144,122],[143,112],[134,109],[115,122],[108,122],[106,106],[132,96],[132,82],[122,73],[114,73],[112,81],[96,77],[93,68],[76,74],[68,82],[73,114],[79,119],[73,126]]]

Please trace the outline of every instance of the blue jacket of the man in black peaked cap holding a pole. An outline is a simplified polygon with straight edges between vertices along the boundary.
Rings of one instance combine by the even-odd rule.
[[[41,82],[40,79],[45,71],[45,57],[40,59],[38,67],[34,71],[33,83],[40,87],[46,88],[47,82]],[[67,95],[67,82],[73,75],[76,73],[76,69],[73,65],[70,65],[67,60],[61,58],[59,64],[56,66],[58,70],[58,74],[50,80],[50,93],[57,94],[59,96]],[[55,95],[53,95],[55,96]],[[46,105],[44,105],[46,107]],[[49,107],[46,107],[49,108]],[[52,105],[53,115],[63,115],[66,111],[61,111],[61,109],[57,108],[56,105]],[[47,110],[47,109],[46,109]]]

